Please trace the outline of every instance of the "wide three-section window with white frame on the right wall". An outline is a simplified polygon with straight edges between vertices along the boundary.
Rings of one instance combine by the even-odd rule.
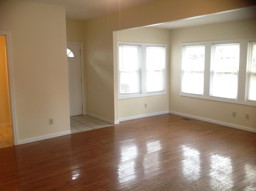
[[[180,96],[256,106],[256,39],[181,44]]]

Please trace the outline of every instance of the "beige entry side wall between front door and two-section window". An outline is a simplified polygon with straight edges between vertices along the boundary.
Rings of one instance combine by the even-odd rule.
[[[85,22],[87,113],[114,123],[113,34],[107,16]]]

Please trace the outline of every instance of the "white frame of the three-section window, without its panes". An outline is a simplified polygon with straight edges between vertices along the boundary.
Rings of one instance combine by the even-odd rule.
[[[194,97],[200,99],[208,99],[214,101],[223,101],[228,103],[237,103],[242,105],[252,105],[256,106],[256,102],[246,101],[246,75],[247,75],[247,63],[248,63],[248,44],[252,41],[256,41],[256,38],[250,39],[234,39],[234,40],[218,40],[218,41],[206,41],[206,42],[191,42],[182,43],[180,48],[180,60],[182,61],[182,47],[183,46],[196,46],[198,44],[205,45],[205,63],[204,63],[204,94],[188,94],[181,92],[182,84],[182,68],[180,63],[180,96]],[[237,99],[228,99],[221,97],[210,96],[210,64],[212,58],[212,45],[213,44],[225,44],[225,43],[240,43],[240,58],[239,58],[239,71],[238,71],[238,95]]]

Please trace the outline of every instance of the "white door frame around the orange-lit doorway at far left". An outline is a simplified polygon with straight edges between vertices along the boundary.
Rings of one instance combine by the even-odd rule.
[[[10,115],[11,115],[10,120],[12,125],[12,140],[14,145],[18,145],[10,32],[0,31],[0,35],[4,35],[6,37],[7,77],[8,77]]]

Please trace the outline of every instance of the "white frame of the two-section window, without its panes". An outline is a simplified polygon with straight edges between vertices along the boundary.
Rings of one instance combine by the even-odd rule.
[[[140,93],[120,94],[120,71],[119,71],[119,46],[140,46]],[[165,64],[163,72],[163,90],[158,92],[146,92],[146,48],[147,46],[162,46],[165,47]],[[139,43],[139,42],[118,42],[117,43],[118,55],[118,99],[129,99],[136,97],[157,96],[166,94],[166,62],[167,62],[167,44],[153,44],[153,43]]]

